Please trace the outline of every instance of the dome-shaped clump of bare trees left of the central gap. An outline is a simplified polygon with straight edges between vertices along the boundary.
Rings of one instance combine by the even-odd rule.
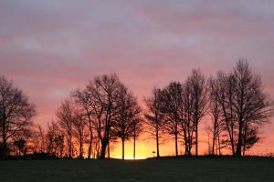
[[[83,157],[87,144],[87,157],[110,157],[111,142],[121,139],[122,158],[127,140],[135,141],[142,131],[141,107],[131,91],[124,86],[118,76],[96,76],[84,89],[77,89],[66,99],[56,112],[57,121],[49,124],[48,131],[56,130],[56,142],[49,146],[56,148],[54,154],[62,157]],[[54,129],[55,128],[55,129]],[[50,135],[49,135],[50,136]],[[61,144],[58,144],[61,138]],[[48,140],[48,138],[47,138]],[[78,144],[78,146],[73,146]],[[64,153],[63,149],[67,151]],[[58,148],[58,149],[57,149]],[[62,148],[62,149],[61,149]]]

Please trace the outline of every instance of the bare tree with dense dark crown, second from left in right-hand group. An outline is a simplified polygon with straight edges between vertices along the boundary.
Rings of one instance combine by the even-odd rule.
[[[164,118],[164,130],[175,138],[175,155],[178,156],[178,135],[183,103],[183,87],[178,82],[172,82],[161,92],[161,110]]]

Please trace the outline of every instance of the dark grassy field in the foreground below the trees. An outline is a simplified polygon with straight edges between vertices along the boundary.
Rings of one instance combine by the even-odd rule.
[[[274,159],[162,158],[138,161],[0,161],[0,182],[8,181],[274,182]]]

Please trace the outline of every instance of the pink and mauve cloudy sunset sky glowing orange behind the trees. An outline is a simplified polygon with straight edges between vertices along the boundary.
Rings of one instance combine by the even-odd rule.
[[[274,98],[273,19],[272,0],[1,0],[0,75],[36,104],[44,126],[71,91],[108,73],[142,103],[153,86],[183,82],[193,68],[216,76],[247,58]],[[252,152],[274,153],[274,122],[260,132]],[[162,154],[173,155],[167,143]],[[153,141],[138,147],[151,156]]]

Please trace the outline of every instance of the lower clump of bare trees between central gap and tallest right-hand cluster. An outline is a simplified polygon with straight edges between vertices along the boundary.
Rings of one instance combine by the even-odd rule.
[[[184,83],[172,82],[163,89],[154,88],[153,96],[146,98],[147,126],[155,132],[157,157],[159,137],[167,134],[174,136],[175,156],[178,156],[178,142],[182,139],[184,155],[192,155],[195,144],[195,155],[198,155],[198,126],[205,116],[207,103],[205,76],[194,70]]]

